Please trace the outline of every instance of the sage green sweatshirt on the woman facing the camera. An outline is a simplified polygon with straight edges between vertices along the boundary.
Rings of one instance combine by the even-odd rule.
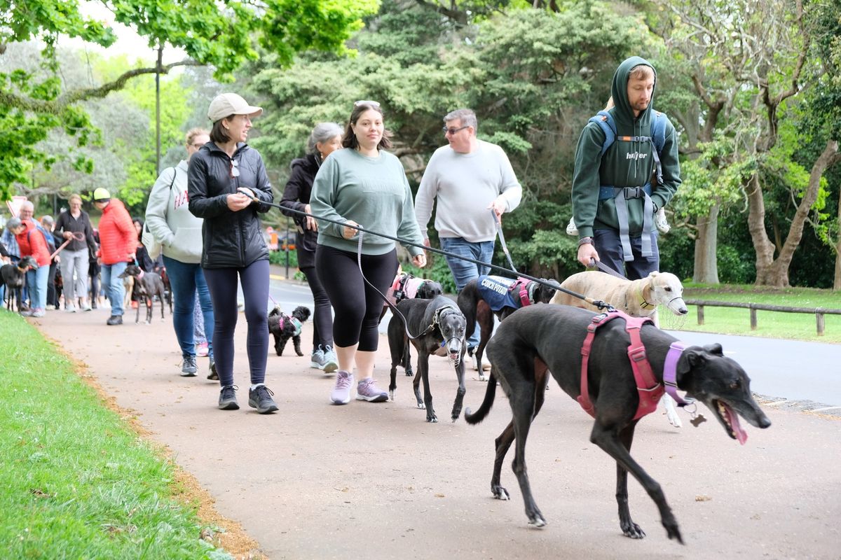
[[[353,220],[361,228],[423,243],[409,181],[394,154],[381,150],[378,157],[369,158],[355,149],[336,150],[315,175],[309,205],[314,216],[340,222]],[[320,244],[357,252],[359,233],[342,238],[343,226],[324,220],[318,220],[318,228]],[[423,253],[414,246],[405,248],[413,256]],[[394,241],[390,239],[370,233],[362,236],[363,254],[386,254],[392,249]]]

